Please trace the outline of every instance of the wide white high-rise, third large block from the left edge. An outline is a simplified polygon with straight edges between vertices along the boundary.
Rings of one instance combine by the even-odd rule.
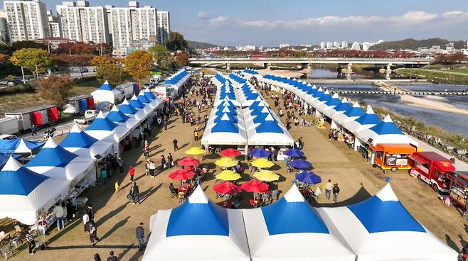
[[[114,48],[129,48],[134,41],[142,39],[156,42],[158,26],[154,7],[139,7],[137,1],[129,1],[129,7],[113,7],[111,14]]]

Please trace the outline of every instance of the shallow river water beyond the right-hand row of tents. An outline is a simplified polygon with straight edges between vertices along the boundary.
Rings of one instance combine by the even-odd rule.
[[[372,72],[373,74],[373,72]],[[382,74],[380,74],[382,75]],[[376,74],[376,77],[369,77],[368,74],[352,74],[353,79],[382,79]],[[338,79],[338,73],[326,69],[313,69],[312,79],[309,82],[314,83],[314,79]],[[341,77],[340,77],[341,78]],[[385,78],[385,77],[383,77]],[[378,90],[371,84],[317,84],[319,87],[326,87],[332,90],[355,90],[355,91],[372,91]],[[401,87],[410,91],[462,91],[468,89],[468,86],[447,85],[447,84],[402,84]],[[452,133],[459,133],[468,137],[468,116],[458,113],[448,113],[445,111],[437,111],[426,109],[417,106],[411,106],[400,100],[400,96],[387,94],[346,94],[351,99],[363,101],[366,104],[371,104],[383,107],[390,111],[394,111],[402,116],[413,117],[418,121],[422,121],[427,125],[440,127]],[[468,96],[424,96],[423,99],[432,99],[437,101],[452,104],[458,108],[468,109]]]

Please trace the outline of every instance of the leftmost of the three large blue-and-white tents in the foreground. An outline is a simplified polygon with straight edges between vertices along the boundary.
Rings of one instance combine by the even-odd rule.
[[[250,261],[242,211],[213,204],[197,187],[175,209],[151,216],[143,261]]]

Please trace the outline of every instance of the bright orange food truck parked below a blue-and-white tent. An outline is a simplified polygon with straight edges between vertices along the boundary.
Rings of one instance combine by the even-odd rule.
[[[404,143],[379,143],[369,145],[373,151],[373,165],[382,170],[410,170],[410,155],[416,152],[416,148]]]

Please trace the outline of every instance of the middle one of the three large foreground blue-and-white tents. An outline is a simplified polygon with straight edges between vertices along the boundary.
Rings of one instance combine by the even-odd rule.
[[[275,203],[242,212],[252,261],[356,260],[336,228],[327,227],[295,184]]]

